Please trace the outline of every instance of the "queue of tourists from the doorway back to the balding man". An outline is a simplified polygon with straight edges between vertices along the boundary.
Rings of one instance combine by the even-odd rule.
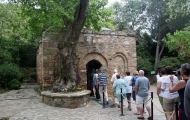
[[[130,72],[126,72],[125,77],[121,77],[121,75],[117,72],[116,69],[113,71],[113,75],[111,77],[111,84],[112,84],[112,100],[113,104],[111,107],[116,107],[115,98],[117,98],[119,104],[118,108],[121,108],[121,94],[122,99],[127,98],[128,101],[128,110],[132,110],[131,108],[131,96],[133,96],[133,100],[136,101],[136,108],[137,112],[135,112],[135,115],[140,115],[137,117],[138,119],[144,119],[143,113],[143,103],[146,107],[149,117],[148,119],[151,119],[150,114],[150,104],[148,102],[148,95],[149,95],[149,88],[150,88],[150,82],[147,77],[144,76],[144,71],[140,70],[139,72],[136,71],[134,76],[130,76]],[[99,103],[103,103],[103,93],[105,95],[106,104],[109,104],[108,102],[108,94],[107,94],[107,75],[104,72],[103,67],[99,69],[99,73],[97,70],[97,75],[93,75],[93,88],[99,90],[100,94],[100,101]],[[95,90],[93,90],[95,91]],[[122,91],[122,93],[121,93]],[[94,96],[95,96],[94,92]]]

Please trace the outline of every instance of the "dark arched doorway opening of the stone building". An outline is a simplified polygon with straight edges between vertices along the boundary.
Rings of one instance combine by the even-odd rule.
[[[92,70],[93,69],[99,69],[102,66],[102,64],[98,61],[98,60],[91,60],[86,64],[86,76],[87,76],[87,89],[91,90],[91,95],[93,95],[93,91],[92,91],[92,84],[91,84],[91,79],[92,79]]]

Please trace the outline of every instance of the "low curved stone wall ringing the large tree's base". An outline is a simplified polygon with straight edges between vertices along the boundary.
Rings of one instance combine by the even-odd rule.
[[[41,92],[42,102],[54,106],[63,108],[79,108],[88,104],[90,101],[89,90],[83,90],[75,93],[52,93],[50,91]]]

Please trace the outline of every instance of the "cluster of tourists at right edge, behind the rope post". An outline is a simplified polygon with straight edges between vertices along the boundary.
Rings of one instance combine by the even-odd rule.
[[[182,64],[175,73],[171,66],[166,66],[157,76],[157,94],[163,99],[166,119],[176,119],[175,103],[179,102],[178,120],[190,120],[190,64]]]

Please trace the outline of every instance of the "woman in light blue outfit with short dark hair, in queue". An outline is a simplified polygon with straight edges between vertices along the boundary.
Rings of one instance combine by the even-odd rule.
[[[126,97],[126,83],[123,79],[120,79],[120,75],[116,75],[117,80],[113,83],[113,89],[116,90],[117,100],[119,101],[119,106],[121,107],[121,89],[122,89],[122,98]]]

